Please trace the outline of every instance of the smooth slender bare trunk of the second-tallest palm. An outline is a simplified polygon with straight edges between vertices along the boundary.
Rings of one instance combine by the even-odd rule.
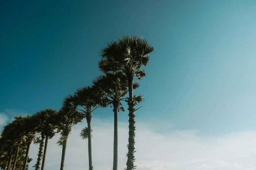
[[[118,104],[114,106],[114,155],[113,170],[117,170],[118,159]]]

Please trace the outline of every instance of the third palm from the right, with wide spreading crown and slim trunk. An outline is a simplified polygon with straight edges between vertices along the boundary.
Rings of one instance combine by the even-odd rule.
[[[89,170],[93,170],[92,163],[92,137],[91,137],[91,121],[92,112],[98,107],[106,107],[105,98],[94,95],[94,89],[91,86],[82,87],[76,90],[74,95],[68,95],[64,98],[63,107],[72,107],[82,114],[88,125],[88,156]],[[71,104],[71,106],[67,106]],[[105,105],[104,105],[105,104]]]

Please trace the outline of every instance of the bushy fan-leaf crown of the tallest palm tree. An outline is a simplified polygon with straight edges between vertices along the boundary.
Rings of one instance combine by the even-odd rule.
[[[141,79],[145,76],[145,70],[140,67],[147,65],[148,54],[153,50],[146,39],[124,35],[118,41],[111,41],[100,51],[101,60],[98,66],[103,72],[121,70],[126,74],[136,74]]]

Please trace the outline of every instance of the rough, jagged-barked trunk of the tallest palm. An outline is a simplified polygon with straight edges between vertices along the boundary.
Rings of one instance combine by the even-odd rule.
[[[133,101],[133,79],[134,74],[128,74],[128,90],[129,90],[129,100],[128,100],[128,110],[129,110],[129,138],[128,138],[128,153],[127,153],[127,169],[133,170],[136,166],[134,166],[135,158],[135,103]]]

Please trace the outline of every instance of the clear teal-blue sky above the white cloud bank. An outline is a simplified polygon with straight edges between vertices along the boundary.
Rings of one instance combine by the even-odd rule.
[[[100,74],[107,42],[138,35],[155,50],[135,91],[145,98],[137,123],[161,135],[256,130],[254,0],[1,1],[0,33],[2,125],[15,114],[59,109]],[[113,113],[98,109],[93,117],[107,121]]]

